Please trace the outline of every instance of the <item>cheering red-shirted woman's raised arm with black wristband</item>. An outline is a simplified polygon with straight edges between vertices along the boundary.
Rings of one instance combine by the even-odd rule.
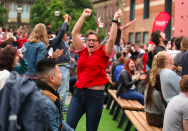
[[[120,18],[122,16],[122,11],[121,9],[119,9],[115,15],[114,15],[114,19],[115,21],[118,22],[118,18]],[[105,46],[105,52],[108,56],[112,55],[113,49],[114,49],[114,43],[116,41],[116,36],[117,36],[117,23],[116,22],[112,22],[112,27],[110,30],[110,38],[108,40],[108,42],[106,43]]]

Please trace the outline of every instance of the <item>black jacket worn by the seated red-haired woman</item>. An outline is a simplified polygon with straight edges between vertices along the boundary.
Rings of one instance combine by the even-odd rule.
[[[123,95],[125,92],[130,90],[133,84],[137,84],[139,81],[132,80],[131,75],[125,69],[123,69],[119,75],[119,87],[117,89],[117,97]]]

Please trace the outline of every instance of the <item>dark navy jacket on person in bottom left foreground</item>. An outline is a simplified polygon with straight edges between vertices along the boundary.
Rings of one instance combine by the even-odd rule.
[[[0,131],[52,131],[41,90],[28,77],[11,72],[0,91]]]

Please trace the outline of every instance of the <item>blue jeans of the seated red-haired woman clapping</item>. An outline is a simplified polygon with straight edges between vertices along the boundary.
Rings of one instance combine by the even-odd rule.
[[[128,90],[120,97],[127,100],[137,100],[140,104],[144,105],[144,96],[136,92],[135,89]]]

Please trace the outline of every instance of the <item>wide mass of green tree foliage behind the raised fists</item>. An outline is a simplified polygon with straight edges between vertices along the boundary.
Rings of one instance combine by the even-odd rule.
[[[46,4],[45,0],[36,0],[31,10],[30,23],[36,25],[38,23],[51,23],[52,31],[56,29],[56,17],[54,12],[56,10],[60,11],[60,16],[58,17],[58,28],[61,27],[64,22],[63,16],[69,14],[72,18],[69,32],[72,32],[74,25],[80,18],[83,10],[85,8],[90,8],[92,14],[90,17],[87,17],[80,33],[86,34],[88,30],[96,30],[97,20],[95,18],[96,12],[93,8],[93,4],[90,0],[51,0],[50,3]],[[104,38],[103,29],[99,30],[99,35],[101,39]]]

